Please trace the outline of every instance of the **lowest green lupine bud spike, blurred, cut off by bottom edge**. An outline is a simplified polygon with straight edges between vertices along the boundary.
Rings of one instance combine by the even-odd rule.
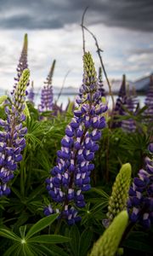
[[[105,230],[103,236],[100,236],[99,240],[94,243],[90,256],[114,256],[127,227],[127,222],[127,211],[120,212],[109,228]]]

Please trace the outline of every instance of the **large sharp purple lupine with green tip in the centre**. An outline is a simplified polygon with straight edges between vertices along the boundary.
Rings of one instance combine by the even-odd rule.
[[[94,62],[89,53],[83,56],[83,84],[77,97],[77,110],[71,123],[65,128],[61,149],[57,152],[57,165],[46,180],[48,195],[55,202],[45,208],[46,215],[60,212],[68,224],[81,218],[76,207],[85,207],[83,193],[90,186],[90,174],[94,170],[94,154],[99,149],[101,129],[105,127],[103,114],[107,106],[101,102],[99,83]]]

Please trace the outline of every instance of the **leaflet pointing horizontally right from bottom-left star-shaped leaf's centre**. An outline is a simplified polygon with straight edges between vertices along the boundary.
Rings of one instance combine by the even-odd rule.
[[[59,243],[70,241],[70,237],[59,236],[59,235],[42,235],[34,236],[28,240],[28,242],[40,242],[40,243]]]

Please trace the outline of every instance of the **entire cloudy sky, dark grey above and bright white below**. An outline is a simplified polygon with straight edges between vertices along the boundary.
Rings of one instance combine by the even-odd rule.
[[[152,0],[0,0],[0,89],[12,88],[24,34],[28,33],[28,64],[40,88],[56,60],[54,86],[82,83],[82,12],[84,25],[99,41],[110,79],[139,79],[153,73]],[[94,39],[86,49],[99,58]]]

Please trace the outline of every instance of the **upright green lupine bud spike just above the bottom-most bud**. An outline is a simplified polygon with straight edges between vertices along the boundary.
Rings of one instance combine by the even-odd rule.
[[[112,193],[108,206],[108,222],[111,223],[118,212],[127,209],[128,191],[131,182],[131,165],[122,165],[120,172],[116,176],[116,181],[112,187]]]

